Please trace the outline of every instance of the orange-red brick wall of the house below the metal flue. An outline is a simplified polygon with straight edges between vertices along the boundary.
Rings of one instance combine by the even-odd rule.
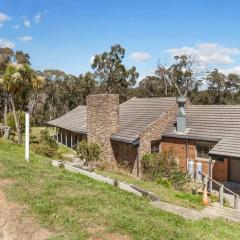
[[[161,142],[161,151],[166,152],[170,151],[171,149],[174,151],[179,161],[179,166],[183,172],[187,172],[187,154],[188,154],[188,159],[194,161],[195,167],[196,163],[201,161],[203,173],[209,174],[208,159],[197,159],[196,141],[189,140],[187,147],[186,140],[176,138],[164,138]],[[223,162],[221,161],[214,162],[213,179],[219,182],[226,182],[228,180],[228,159],[224,159]]]

